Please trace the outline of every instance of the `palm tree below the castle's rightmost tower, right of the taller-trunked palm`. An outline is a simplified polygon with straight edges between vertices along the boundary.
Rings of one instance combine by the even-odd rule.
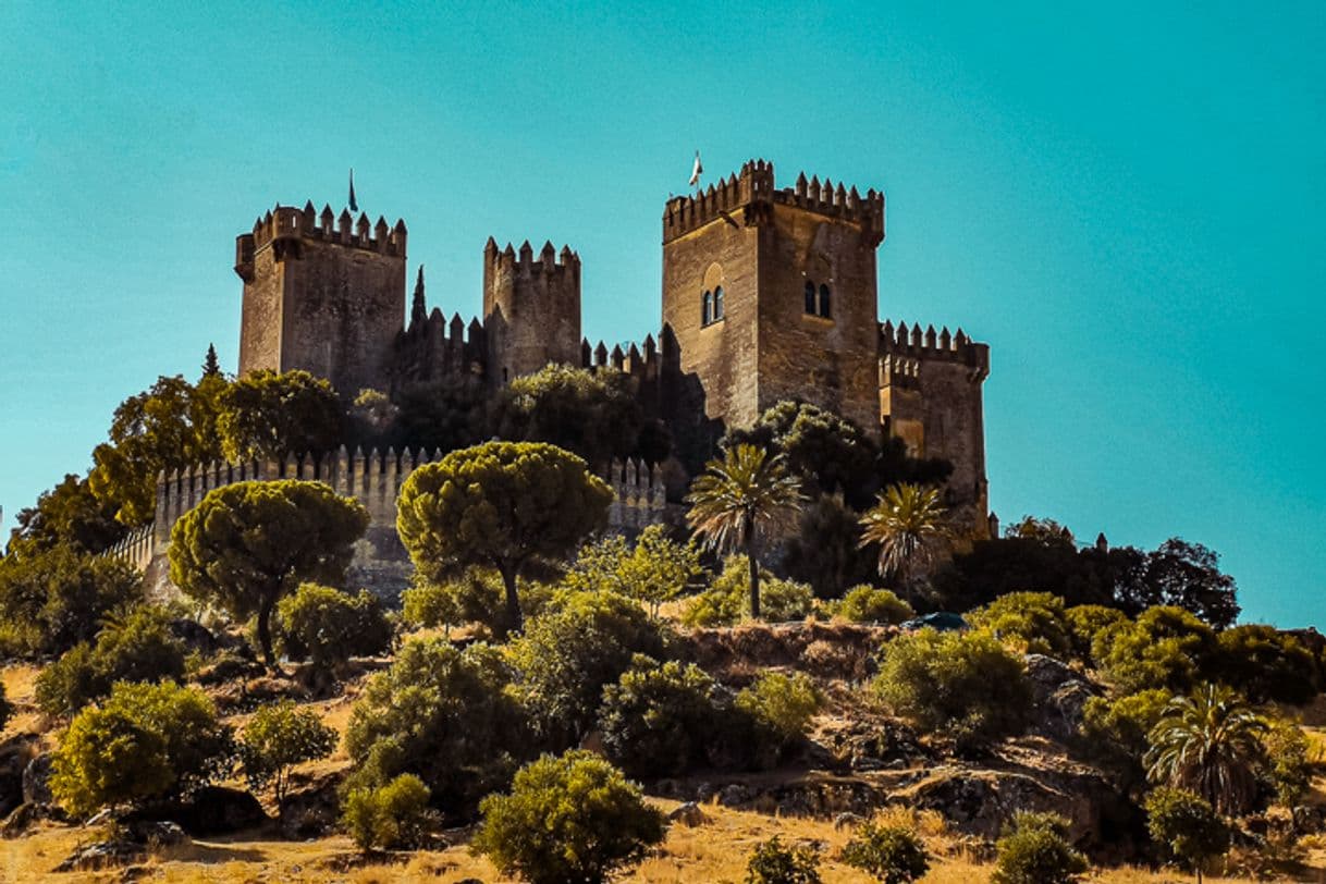
[[[884,489],[861,517],[861,546],[879,543],[879,577],[892,577],[910,596],[910,579],[930,566],[948,535],[944,516],[937,488],[899,482]]]

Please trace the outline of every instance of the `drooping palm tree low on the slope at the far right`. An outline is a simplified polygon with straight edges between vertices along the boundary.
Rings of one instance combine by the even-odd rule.
[[[1266,722],[1232,688],[1204,685],[1192,697],[1171,700],[1151,729],[1147,775],[1236,814],[1257,795],[1264,730]]]

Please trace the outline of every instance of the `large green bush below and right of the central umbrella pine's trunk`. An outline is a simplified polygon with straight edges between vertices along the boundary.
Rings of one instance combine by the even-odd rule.
[[[639,604],[615,592],[564,592],[509,645],[520,693],[549,745],[579,742],[606,685],[636,653],[662,659],[663,634]]]

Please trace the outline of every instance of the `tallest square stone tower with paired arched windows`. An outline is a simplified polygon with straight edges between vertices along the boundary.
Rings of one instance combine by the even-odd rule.
[[[782,399],[879,429],[875,252],[883,193],[774,187],[752,160],[663,213],[663,326],[704,417],[748,427]]]

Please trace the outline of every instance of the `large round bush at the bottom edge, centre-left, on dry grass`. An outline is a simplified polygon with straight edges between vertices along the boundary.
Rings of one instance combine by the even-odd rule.
[[[509,795],[489,795],[472,850],[530,884],[597,884],[663,840],[663,814],[610,763],[587,751],[544,755]]]

